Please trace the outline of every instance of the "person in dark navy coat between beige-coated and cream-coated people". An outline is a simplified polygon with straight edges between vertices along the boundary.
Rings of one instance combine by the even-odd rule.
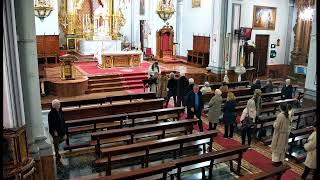
[[[227,94],[227,101],[223,107],[223,121],[224,121],[224,138],[233,138],[234,123],[236,120],[236,97],[232,92]],[[230,133],[229,133],[230,129]]]

